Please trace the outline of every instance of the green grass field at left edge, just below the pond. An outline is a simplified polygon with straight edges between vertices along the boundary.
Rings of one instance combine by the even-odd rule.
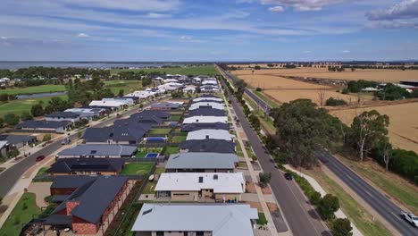
[[[57,96],[63,99],[67,99],[66,95]],[[29,112],[32,105],[38,104],[39,101],[43,101],[46,105],[52,97],[39,97],[33,99],[22,99],[22,100],[13,100],[8,103],[4,103],[0,105],[0,117],[3,117],[4,114],[13,113],[20,115],[23,112]]]

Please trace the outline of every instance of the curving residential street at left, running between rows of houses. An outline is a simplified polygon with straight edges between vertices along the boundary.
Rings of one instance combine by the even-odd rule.
[[[157,101],[155,101],[157,102]],[[155,103],[152,102],[152,103]],[[148,103],[152,104],[152,103]],[[123,114],[123,116],[129,116],[130,114],[134,114],[138,112],[138,108],[134,108],[126,113]],[[94,126],[91,127],[104,127],[109,124],[112,124],[116,120],[116,116],[112,117],[109,120],[106,120],[104,122],[100,122]],[[77,134],[73,134],[69,136],[71,140],[77,139]],[[31,166],[37,164],[36,158],[37,156],[49,156],[52,153],[54,153],[58,148],[62,147],[61,144],[62,139],[56,140],[53,143],[47,145],[46,147],[40,149],[38,152],[33,153],[32,155],[24,158],[21,160],[21,162],[14,164],[12,167],[7,168],[2,173],[0,173],[0,197],[4,198],[4,196],[9,192],[9,190],[12,190],[14,184],[21,178],[21,175],[25,173]]]

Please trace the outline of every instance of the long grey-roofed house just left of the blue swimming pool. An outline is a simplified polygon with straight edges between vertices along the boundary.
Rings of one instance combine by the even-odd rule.
[[[64,149],[57,154],[58,158],[121,158],[131,157],[137,152],[137,147],[121,145],[78,145]]]

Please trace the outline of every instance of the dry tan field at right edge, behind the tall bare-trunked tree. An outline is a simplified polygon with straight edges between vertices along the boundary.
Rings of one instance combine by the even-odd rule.
[[[418,152],[418,103],[339,110],[332,111],[331,114],[339,117],[342,122],[351,124],[355,115],[372,109],[389,115],[389,138],[395,147]]]

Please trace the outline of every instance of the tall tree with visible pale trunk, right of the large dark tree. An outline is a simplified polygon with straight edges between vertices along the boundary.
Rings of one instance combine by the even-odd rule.
[[[379,140],[388,139],[388,126],[389,116],[376,110],[365,111],[354,118],[349,140],[355,143],[360,161]]]

